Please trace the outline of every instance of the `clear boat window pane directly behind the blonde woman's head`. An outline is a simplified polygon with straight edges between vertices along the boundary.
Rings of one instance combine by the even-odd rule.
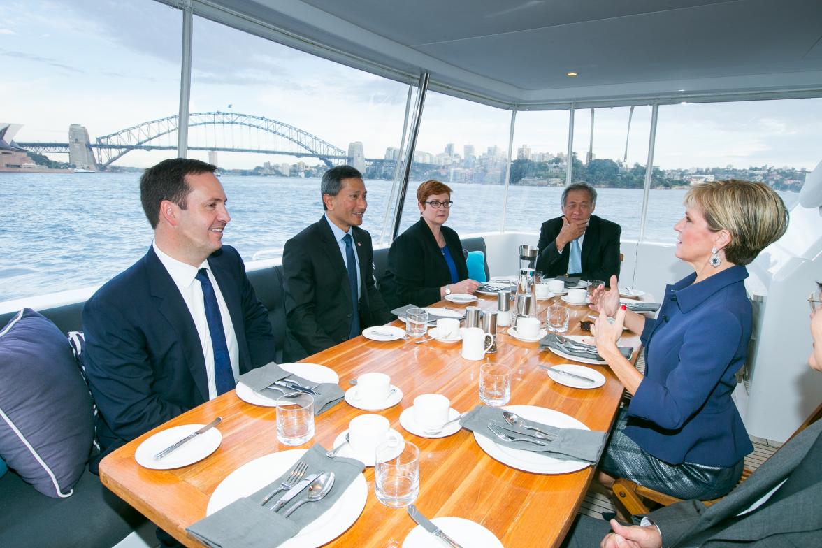
[[[660,106],[653,163],[662,170],[662,186],[672,190],[651,191],[648,222],[653,215],[653,223],[670,229],[657,237],[646,230],[646,239],[676,241],[681,198],[700,181],[766,182],[790,208],[806,173],[822,159],[820,119],[822,99]]]

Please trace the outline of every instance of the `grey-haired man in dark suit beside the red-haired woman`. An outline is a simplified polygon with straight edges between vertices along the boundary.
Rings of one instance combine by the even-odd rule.
[[[326,213],[283,250],[285,357],[293,361],[393,320],[374,281],[371,235],[359,228],[367,208],[363,175],[331,168],[321,196]]]

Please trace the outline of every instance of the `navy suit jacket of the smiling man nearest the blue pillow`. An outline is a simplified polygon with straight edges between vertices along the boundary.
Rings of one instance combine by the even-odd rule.
[[[223,246],[208,261],[229,308],[240,372],[274,361],[268,313],[238,252]],[[82,360],[104,452],[208,400],[194,320],[152,247],[85,303],[83,329]]]

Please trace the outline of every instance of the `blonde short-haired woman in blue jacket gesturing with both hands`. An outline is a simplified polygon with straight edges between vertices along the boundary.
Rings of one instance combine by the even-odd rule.
[[[674,226],[676,256],[695,272],[665,288],[656,319],[619,306],[616,276],[610,291],[593,295],[597,350],[633,394],[599,480],[610,486],[626,477],[681,499],[709,500],[736,485],[753,449],[731,399],[752,325],[744,265],[782,237],[788,214],[770,187],[736,179],[691,187],[685,205]],[[607,316],[616,317],[613,325]],[[617,349],[623,325],[641,334],[644,375]]]

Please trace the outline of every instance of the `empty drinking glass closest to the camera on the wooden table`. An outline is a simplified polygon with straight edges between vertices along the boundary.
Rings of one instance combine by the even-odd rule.
[[[391,508],[402,508],[419,494],[419,448],[392,438],[376,446],[374,494]]]

